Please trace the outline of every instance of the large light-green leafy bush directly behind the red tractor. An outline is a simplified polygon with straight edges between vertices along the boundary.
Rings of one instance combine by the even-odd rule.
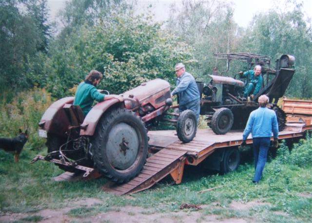
[[[57,43],[56,43],[57,44]],[[99,88],[122,93],[156,77],[173,83],[177,61],[193,59],[191,49],[164,34],[151,18],[118,13],[93,27],[84,26],[66,47],[53,50],[47,89],[55,97],[84,79],[90,70],[104,73]]]

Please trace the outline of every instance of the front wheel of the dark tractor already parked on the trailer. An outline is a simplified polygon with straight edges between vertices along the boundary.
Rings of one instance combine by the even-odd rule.
[[[231,130],[234,116],[230,109],[221,108],[215,111],[211,119],[211,128],[217,135],[223,135]]]

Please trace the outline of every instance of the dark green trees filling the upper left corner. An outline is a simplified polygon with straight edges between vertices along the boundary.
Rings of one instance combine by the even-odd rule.
[[[32,6],[27,8],[27,5]],[[24,11],[23,7],[26,7]],[[1,92],[32,87],[27,67],[39,51],[47,50],[50,25],[46,13],[46,0],[0,1]]]

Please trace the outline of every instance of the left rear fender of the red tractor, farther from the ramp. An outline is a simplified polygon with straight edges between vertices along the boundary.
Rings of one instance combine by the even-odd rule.
[[[62,110],[65,104],[72,104],[74,97],[64,97],[54,102],[44,112],[39,122],[39,129],[48,133],[62,134],[69,125],[68,119]]]

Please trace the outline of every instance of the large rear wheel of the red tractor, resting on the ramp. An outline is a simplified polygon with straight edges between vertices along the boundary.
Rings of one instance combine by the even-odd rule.
[[[130,110],[118,108],[104,114],[91,143],[95,167],[114,182],[128,182],[141,171],[146,161],[147,130]]]

